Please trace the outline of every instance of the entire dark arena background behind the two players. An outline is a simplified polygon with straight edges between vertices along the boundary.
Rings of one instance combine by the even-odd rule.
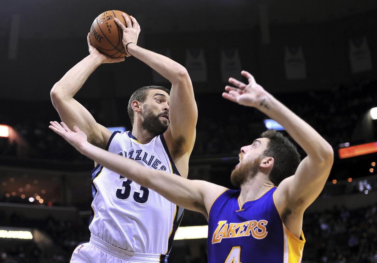
[[[190,179],[232,187],[239,148],[266,129],[266,116],[221,98],[227,78],[248,70],[334,148],[305,213],[302,262],[377,262],[375,0],[1,1],[0,262],[67,262],[89,240],[93,164],[48,129],[59,118],[49,92],[111,9],[138,19],[140,46],[190,73],[199,110]],[[75,98],[106,127],[130,128],[129,96],[152,84],[169,87],[130,57],[101,65]],[[186,211],[181,226],[206,223]],[[183,230],[169,262],[207,262],[201,228]]]

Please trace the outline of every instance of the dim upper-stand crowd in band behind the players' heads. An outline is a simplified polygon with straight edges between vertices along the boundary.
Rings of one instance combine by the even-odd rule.
[[[277,94],[276,97],[336,147],[344,142],[359,143],[365,140],[352,135],[357,125],[362,125],[365,113],[377,106],[377,81],[340,85],[324,91]],[[118,106],[123,106],[125,100],[128,101],[128,98],[118,99]],[[211,103],[208,103],[209,100]],[[262,113],[225,101],[219,94],[199,93],[196,101],[199,116],[192,156],[238,153],[242,145],[252,142],[266,130],[263,124],[266,117]],[[98,101],[80,102],[98,123],[107,127],[112,125],[130,128],[129,117],[123,107],[116,109],[114,120],[113,114],[109,118],[103,110],[104,106],[99,106],[101,104]],[[5,103],[2,107],[12,109],[21,106],[25,108],[22,116],[14,116],[16,111],[12,110],[0,111],[0,123],[9,124],[20,132],[32,147],[32,157],[66,161],[83,159],[48,129],[50,120],[59,120],[51,103],[41,102],[36,106],[35,102],[12,102],[9,105]],[[109,119],[112,119],[111,123]],[[0,143],[0,154],[16,154],[14,145]]]

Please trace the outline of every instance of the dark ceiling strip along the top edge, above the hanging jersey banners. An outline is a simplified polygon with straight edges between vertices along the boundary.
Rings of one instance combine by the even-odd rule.
[[[0,1],[0,34],[20,14],[23,38],[86,35],[101,12],[115,9],[136,17],[145,32],[213,31],[252,28],[265,5],[271,24],[316,23],[377,8],[376,0],[12,0]]]

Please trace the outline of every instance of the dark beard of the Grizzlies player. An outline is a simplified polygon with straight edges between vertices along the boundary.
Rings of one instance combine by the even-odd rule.
[[[168,112],[155,114],[146,104],[143,109],[143,121],[141,127],[149,131],[152,135],[157,136],[164,133],[169,126],[169,122],[162,121],[160,116],[168,115]]]

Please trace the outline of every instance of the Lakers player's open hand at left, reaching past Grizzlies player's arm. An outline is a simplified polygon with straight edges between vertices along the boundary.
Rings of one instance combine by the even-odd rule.
[[[88,137],[86,134],[81,131],[77,126],[74,126],[74,131],[71,131],[68,126],[64,123],[57,121],[50,121],[49,128],[55,131],[58,135],[63,137],[69,144],[76,148],[76,150],[80,151],[81,147],[88,141]]]

